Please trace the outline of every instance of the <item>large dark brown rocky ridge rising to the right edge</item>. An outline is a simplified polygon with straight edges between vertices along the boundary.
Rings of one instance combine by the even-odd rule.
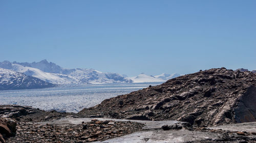
[[[170,79],[106,99],[79,113],[118,119],[178,120],[195,126],[256,121],[256,74],[225,68]]]

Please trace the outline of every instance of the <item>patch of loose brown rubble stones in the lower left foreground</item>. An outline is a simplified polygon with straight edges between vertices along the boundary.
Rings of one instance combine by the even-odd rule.
[[[103,124],[103,122],[96,124],[96,122],[98,120],[67,126],[19,122],[16,136],[6,139],[6,142],[92,142],[144,130],[144,124],[136,122],[109,121],[110,124]],[[86,129],[83,129],[84,127]]]

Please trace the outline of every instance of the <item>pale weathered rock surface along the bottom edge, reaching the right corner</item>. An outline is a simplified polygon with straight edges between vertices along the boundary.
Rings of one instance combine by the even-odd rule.
[[[208,132],[208,131],[189,131],[189,130],[150,130],[140,131],[129,135],[97,141],[94,143],[174,143],[174,142],[255,142],[255,137],[242,136],[235,133]]]

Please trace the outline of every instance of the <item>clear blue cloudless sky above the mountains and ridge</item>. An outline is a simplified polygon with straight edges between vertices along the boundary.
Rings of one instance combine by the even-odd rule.
[[[0,61],[129,76],[256,69],[256,1],[0,1]]]

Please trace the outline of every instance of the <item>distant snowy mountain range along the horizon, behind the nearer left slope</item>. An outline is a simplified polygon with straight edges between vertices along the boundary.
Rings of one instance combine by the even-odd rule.
[[[67,69],[55,63],[42,60],[32,63],[0,62],[0,68],[24,73],[53,84],[81,83],[130,83],[130,82],[164,82],[181,74],[160,74],[156,76],[141,73],[135,77],[126,77],[118,73],[103,73],[94,69]]]

